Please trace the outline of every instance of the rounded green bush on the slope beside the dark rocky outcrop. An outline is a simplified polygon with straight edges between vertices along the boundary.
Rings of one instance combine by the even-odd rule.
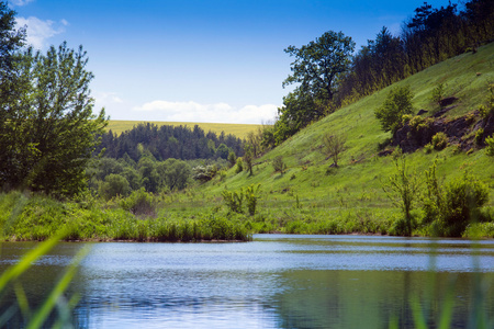
[[[397,131],[402,116],[413,113],[412,99],[414,98],[409,86],[391,89],[384,103],[374,112],[384,132]]]

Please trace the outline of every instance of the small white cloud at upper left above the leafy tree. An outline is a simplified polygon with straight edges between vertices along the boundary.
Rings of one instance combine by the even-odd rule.
[[[46,46],[46,42],[48,38],[65,32],[64,26],[68,25],[66,20],[61,20],[59,23],[56,23],[50,20],[40,20],[35,16],[25,18],[16,18],[18,27],[27,26],[26,33],[26,42],[31,44],[36,49],[43,49]]]

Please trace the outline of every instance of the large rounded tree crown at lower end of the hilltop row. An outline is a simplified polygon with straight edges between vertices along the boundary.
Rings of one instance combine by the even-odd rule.
[[[294,56],[292,75],[283,87],[301,83],[300,90],[317,99],[332,101],[338,79],[350,69],[355,42],[343,32],[328,31],[307,45],[289,46],[284,52]]]

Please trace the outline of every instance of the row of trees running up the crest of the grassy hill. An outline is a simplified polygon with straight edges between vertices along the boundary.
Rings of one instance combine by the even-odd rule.
[[[337,109],[383,89],[439,61],[494,39],[494,2],[470,0],[439,9],[424,2],[403,22],[398,35],[383,27],[375,39],[353,54],[355,42],[328,31],[302,47],[284,52],[294,61],[283,87],[296,88],[283,98],[263,144],[281,144],[301,128]]]

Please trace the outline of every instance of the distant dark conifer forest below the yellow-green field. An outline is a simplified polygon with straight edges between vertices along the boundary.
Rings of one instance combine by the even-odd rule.
[[[143,150],[147,150],[155,159],[194,160],[194,159],[227,159],[231,151],[243,155],[243,140],[232,134],[222,132],[205,133],[198,125],[171,126],[146,123],[134,126],[120,135],[109,131],[101,135],[101,144],[96,154],[104,150],[104,156],[120,159],[125,155],[134,161],[139,161]]]

